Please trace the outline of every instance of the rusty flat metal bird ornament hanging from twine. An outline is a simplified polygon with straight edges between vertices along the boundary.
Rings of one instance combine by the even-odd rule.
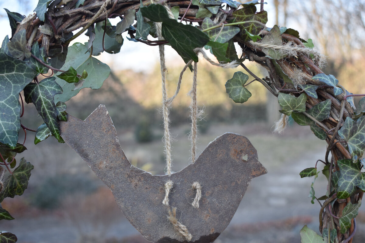
[[[251,179],[266,173],[250,141],[234,133],[216,138],[181,171],[151,175],[130,164],[104,105],[85,121],[68,115],[60,126],[62,138],[112,191],[124,216],[155,243],[213,242]]]

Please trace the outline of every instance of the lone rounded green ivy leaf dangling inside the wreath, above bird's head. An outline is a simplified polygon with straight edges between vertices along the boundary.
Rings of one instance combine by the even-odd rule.
[[[250,91],[243,87],[247,82],[247,79],[249,79],[247,74],[238,71],[235,72],[233,78],[228,79],[226,85],[224,85],[226,86],[227,94],[234,102],[244,103],[251,97],[252,94]]]

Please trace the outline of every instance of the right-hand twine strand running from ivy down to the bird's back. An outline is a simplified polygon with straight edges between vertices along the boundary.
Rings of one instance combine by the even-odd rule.
[[[197,105],[196,105],[196,76],[198,72],[198,64],[194,62],[194,75],[193,75],[193,86],[189,92],[191,96],[190,103],[190,117],[191,117],[191,161],[195,162],[196,157],[196,116],[197,116]]]

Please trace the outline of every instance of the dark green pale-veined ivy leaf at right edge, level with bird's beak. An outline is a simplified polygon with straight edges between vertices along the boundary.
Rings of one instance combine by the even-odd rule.
[[[353,163],[350,159],[337,161],[340,176],[338,179],[337,197],[345,199],[349,197],[356,187],[365,191],[364,173],[360,171],[360,162]]]

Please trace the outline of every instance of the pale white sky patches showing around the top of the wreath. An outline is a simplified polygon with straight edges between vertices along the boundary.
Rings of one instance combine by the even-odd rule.
[[[242,0],[246,2],[247,0]],[[274,11],[272,0],[266,0],[268,4],[265,5],[265,10],[268,11],[269,22],[266,24],[268,27],[272,27],[274,23]],[[6,12],[3,8],[7,8],[11,12],[18,12],[22,15],[31,14],[33,9],[37,6],[38,0],[29,0],[27,6],[20,6],[17,1],[0,1],[0,40],[3,40],[6,35],[11,36],[11,29],[9,27],[9,20]],[[118,23],[119,18],[115,19]],[[113,24],[116,24],[113,23]],[[126,34],[123,35],[123,37]],[[88,37],[81,35],[76,39],[76,42],[87,42]],[[171,66],[184,65],[180,56],[170,47],[165,47],[166,62]],[[140,42],[131,42],[127,38],[124,38],[123,46],[118,54],[108,54],[103,52],[101,55],[96,56],[102,62],[108,64],[113,70],[132,69],[134,71],[151,71],[156,63],[159,62],[158,47],[147,46]]]

